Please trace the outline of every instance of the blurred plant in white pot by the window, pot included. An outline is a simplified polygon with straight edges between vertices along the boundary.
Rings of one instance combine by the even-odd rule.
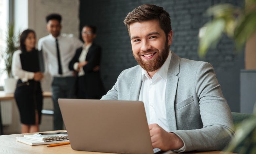
[[[17,80],[13,78],[11,73],[12,55],[17,47],[18,37],[14,34],[14,24],[8,25],[6,44],[6,51],[2,54],[5,63],[5,71],[7,72],[8,78],[5,79],[4,90],[6,93],[13,93],[16,87]]]

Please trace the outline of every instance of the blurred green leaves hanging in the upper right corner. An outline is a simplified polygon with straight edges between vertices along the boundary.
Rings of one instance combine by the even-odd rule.
[[[256,31],[256,0],[245,0],[245,7],[218,4],[206,14],[213,19],[199,31],[198,54],[205,57],[210,47],[216,47],[223,33],[235,41],[237,50],[242,50],[248,38]]]

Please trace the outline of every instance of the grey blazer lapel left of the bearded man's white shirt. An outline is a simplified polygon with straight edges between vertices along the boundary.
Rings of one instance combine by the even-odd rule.
[[[139,71],[136,74],[136,78],[133,79],[131,87],[130,87],[130,99],[131,101],[138,101],[139,100],[139,92],[141,88],[141,82],[142,82],[142,77],[141,77],[141,71],[142,68],[139,67]]]

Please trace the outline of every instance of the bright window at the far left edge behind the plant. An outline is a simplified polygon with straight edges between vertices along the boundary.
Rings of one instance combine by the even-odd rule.
[[[2,57],[3,52],[6,49],[6,32],[8,27],[8,0],[0,0],[0,87],[4,85],[4,79],[7,77],[7,73],[4,70],[4,59]]]

